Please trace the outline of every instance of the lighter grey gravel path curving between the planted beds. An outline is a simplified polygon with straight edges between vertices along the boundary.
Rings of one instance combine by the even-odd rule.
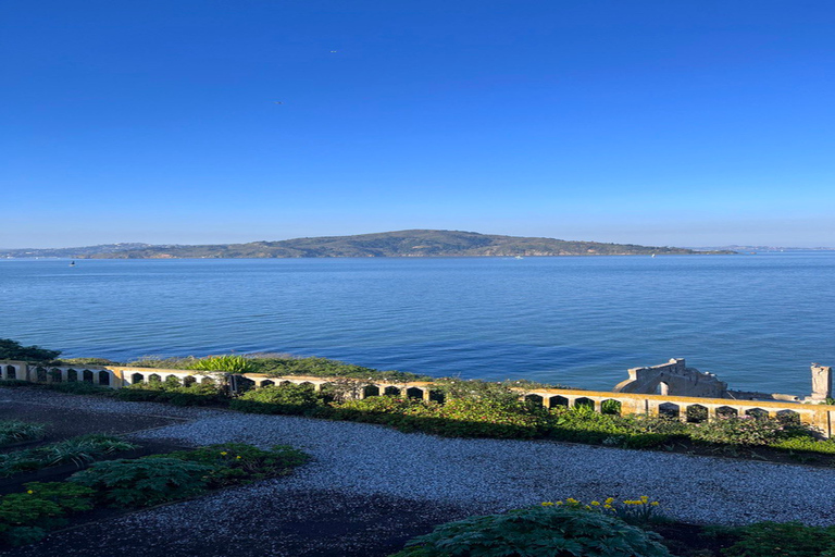
[[[565,497],[590,500],[648,495],[661,502],[668,515],[688,522],[835,524],[835,469],[551,442],[443,438],[362,423],[0,389],[0,398],[30,397],[57,408],[84,407],[125,419],[153,414],[192,420],[137,435],[142,438],[192,445],[235,441],[263,448],[286,444],[314,457],[288,479],[120,519],[123,532],[152,524],[169,535],[199,531],[229,540],[240,534],[242,516],[259,516],[261,509],[274,508],[276,500],[292,499],[299,493],[332,493],[334,500],[362,502],[360,507],[376,497],[374,500],[394,506],[392,512],[410,505],[424,506],[418,515],[428,523],[433,518],[496,512]],[[347,549],[333,553],[350,554]],[[266,555],[285,554],[275,547]],[[323,549],[297,550],[296,555],[331,554]]]

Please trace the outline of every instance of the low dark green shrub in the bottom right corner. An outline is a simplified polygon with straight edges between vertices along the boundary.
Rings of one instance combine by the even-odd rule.
[[[727,557],[835,557],[835,527],[759,522],[733,533],[740,540],[722,552]]]

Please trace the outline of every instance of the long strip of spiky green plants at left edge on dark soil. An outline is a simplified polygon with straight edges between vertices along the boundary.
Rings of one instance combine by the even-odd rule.
[[[0,454],[0,478],[70,462],[80,468],[105,455],[136,447],[133,443],[110,435],[82,435],[42,447]]]

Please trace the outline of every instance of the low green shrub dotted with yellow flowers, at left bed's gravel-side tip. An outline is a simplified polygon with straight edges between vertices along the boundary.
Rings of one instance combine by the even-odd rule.
[[[210,445],[148,458],[177,458],[211,467],[212,471],[207,474],[211,487],[286,475],[309,459],[304,453],[284,445],[262,450],[242,443]]]

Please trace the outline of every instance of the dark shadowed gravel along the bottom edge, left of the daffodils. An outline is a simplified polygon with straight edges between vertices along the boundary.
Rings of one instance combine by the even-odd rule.
[[[0,553],[20,557],[384,557],[434,525],[472,513],[411,499],[332,491],[277,492],[248,505],[214,497],[55,532]]]

